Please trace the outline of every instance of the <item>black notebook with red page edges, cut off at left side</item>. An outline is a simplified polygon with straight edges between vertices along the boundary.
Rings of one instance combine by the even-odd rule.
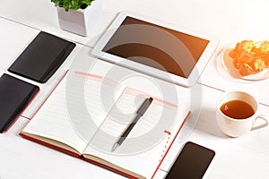
[[[20,115],[39,87],[8,74],[0,78],[0,132],[6,131]]]

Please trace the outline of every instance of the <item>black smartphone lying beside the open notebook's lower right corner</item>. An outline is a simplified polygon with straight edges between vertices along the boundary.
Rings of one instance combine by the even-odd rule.
[[[187,141],[170,168],[166,179],[200,179],[210,165],[215,152],[194,142]]]

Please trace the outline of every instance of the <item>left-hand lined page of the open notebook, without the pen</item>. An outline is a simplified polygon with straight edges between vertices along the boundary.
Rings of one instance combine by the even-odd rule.
[[[115,103],[108,97],[117,98],[124,90],[102,81],[93,74],[68,72],[22,132],[63,142],[82,153]]]

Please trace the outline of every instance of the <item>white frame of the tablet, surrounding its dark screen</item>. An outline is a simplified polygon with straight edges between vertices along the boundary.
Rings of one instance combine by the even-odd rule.
[[[136,63],[134,61],[128,60],[126,58],[123,58],[117,55],[111,55],[106,52],[102,52],[102,49],[107,45],[108,40],[114,35],[117,28],[122,24],[122,22],[126,19],[127,16],[141,20],[141,21],[147,21],[147,22],[150,22],[150,23],[153,23],[153,24],[156,24],[156,25],[159,25],[159,26],[171,29],[171,30],[177,30],[177,31],[186,33],[188,35],[195,36],[197,38],[204,38],[209,41],[209,43],[204,49],[204,53],[200,56],[198,62],[195,64],[195,68],[189,74],[188,78],[184,78],[170,72],[164,72],[164,71],[161,71],[159,69],[153,68],[145,64]],[[157,20],[145,17],[140,14],[131,13],[131,12],[122,12],[117,15],[117,18],[115,19],[115,21],[111,23],[111,25],[108,27],[108,30],[105,31],[105,33],[97,42],[95,47],[93,47],[92,55],[96,56],[97,58],[106,60],[110,63],[119,64],[126,68],[135,70],[137,72],[143,72],[145,74],[152,75],[153,77],[157,77],[159,79],[169,81],[169,82],[181,85],[181,86],[191,87],[195,85],[195,82],[199,79],[201,72],[203,72],[205,65],[208,63],[208,61],[212,57],[218,44],[219,44],[219,39],[213,36],[210,36],[201,32],[197,32],[197,31],[195,32],[193,30],[187,30],[182,27],[176,27],[175,25],[162,22],[162,21],[157,21]]]

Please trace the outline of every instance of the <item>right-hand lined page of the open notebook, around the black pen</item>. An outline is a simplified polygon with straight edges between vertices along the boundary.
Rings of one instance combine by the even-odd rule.
[[[183,124],[188,109],[154,98],[152,105],[135,124],[126,140],[112,152],[117,138],[134,119],[137,108],[146,98],[142,94],[141,91],[127,89],[83,153],[151,177]]]

